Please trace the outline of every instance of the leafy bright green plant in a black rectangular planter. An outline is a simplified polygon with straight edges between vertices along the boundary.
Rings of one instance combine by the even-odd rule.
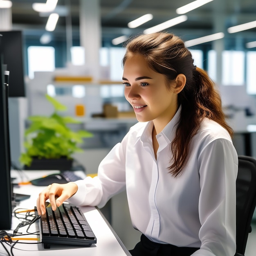
[[[31,170],[68,170],[72,166],[72,154],[82,152],[79,143],[83,138],[92,137],[85,130],[72,131],[68,124],[80,123],[72,117],[58,115],[66,106],[46,94],[54,112],[47,116],[29,117],[29,128],[25,130],[25,152],[20,155],[20,163]]]

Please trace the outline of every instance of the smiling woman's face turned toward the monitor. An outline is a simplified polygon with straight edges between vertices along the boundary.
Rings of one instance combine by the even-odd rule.
[[[166,126],[177,111],[177,93],[166,86],[166,79],[150,69],[141,55],[128,57],[124,64],[124,94],[137,120]],[[170,86],[169,86],[170,87]]]

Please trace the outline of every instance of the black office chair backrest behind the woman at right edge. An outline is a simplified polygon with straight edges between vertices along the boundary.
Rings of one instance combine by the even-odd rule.
[[[245,254],[248,234],[256,206],[256,160],[238,156],[236,180],[236,252]]]

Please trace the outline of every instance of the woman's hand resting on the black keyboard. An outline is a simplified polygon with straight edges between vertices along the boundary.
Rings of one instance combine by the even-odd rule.
[[[78,187],[74,182],[67,184],[53,183],[42,192],[36,201],[36,207],[39,215],[45,214],[45,200],[49,198],[52,209],[55,211],[65,200],[72,197],[77,191]]]

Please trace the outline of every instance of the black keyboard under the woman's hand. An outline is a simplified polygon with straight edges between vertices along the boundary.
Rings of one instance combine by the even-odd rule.
[[[39,228],[45,248],[49,248],[49,244],[90,246],[97,243],[85,216],[72,204],[64,203],[56,211],[52,211],[49,204],[39,219]]]

